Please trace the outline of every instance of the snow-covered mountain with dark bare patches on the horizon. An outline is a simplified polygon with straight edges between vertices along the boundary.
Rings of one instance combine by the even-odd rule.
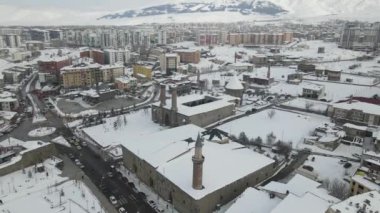
[[[347,19],[380,20],[378,11],[380,0],[172,0],[165,4],[145,7],[138,10],[125,10],[110,13],[99,20],[141,19],[141,17],[170,16],[170,19],[190,19],[194,14],[207,16],[215,13],[243,16],[274,16],[276,18],[310,18],[335,16]],[[249,19],[249,18],[247,18]],[[146,20],[146,19],[143,19]],[[198,21],[198,20],[197,20]]]

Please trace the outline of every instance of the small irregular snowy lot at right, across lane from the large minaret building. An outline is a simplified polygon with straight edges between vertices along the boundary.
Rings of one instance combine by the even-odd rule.
[[[315,160],[311,161],[313,157]],[[320,180],[328,178],[331,181],[334,179],[342,180],[344,177],[349,177],[354,174],[359,167],[359,163],[350,162],[352,167],[345,169],[343,167],[344,163],[339,162],[339,158],[310,155],[304,165],[312,166],[314,168],[313,172],[318,174]]]

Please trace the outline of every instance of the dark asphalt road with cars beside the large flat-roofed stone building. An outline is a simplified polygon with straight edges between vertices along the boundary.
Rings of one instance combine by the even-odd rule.
[[[75,158],[85,166],[82,170],[84,174],[109,198],[111,195],[117,199],[116,209],[124,207],[127,212],[155,212],[146,203],[143,194],[139,193],[121,173],[111,168],[111,163],[105,162],[100,156],[95,154],[90,148],[83,147],[79,150],[60,149],[62,153],[73,153]],[[112,177],[108,173],[112,173]],[[82,177],[79,177],[82,178]],[[83,176],[83,178],[85,178]]]

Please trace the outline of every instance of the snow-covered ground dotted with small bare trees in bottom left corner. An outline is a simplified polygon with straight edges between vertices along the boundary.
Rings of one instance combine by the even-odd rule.
[[[82,182],[60,176],[57,162],[59,159],[45,160],[41,173],[31,166],[0,177],[1,212],[102,212],[99,201]]]

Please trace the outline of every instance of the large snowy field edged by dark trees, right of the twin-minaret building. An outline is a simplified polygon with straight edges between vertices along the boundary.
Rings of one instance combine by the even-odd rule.
[[[293,113],[282,110],[274,110],[272,118],[269,112],[264,110],[257,114],[223,124],[218,127],[223,131],[238,136],[240,132],[245,132],[249,138],[261,137],[265,143],[267,135],[273,132],[277,140],[293,142],[293,146],[303,142],[316,127],[328,123],[329,119],[324,116],[306,115],[305,113]],[[289,121],[292,125],[288,125]]]

